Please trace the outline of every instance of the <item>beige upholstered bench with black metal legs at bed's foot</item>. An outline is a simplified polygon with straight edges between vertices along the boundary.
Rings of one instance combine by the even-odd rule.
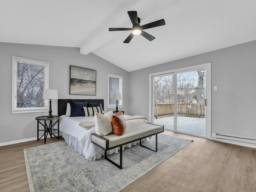
[[[107,136],[99,136],[96,133],[93,133],[91,142],[96,146],[105,150],[106,160],[108,160],[118,168],[122,169],[122,146],[123,145],[140,140],[140,146],[148,148],[141,144],[141,140],[146,137],[156,135],[156,149],[151,149],[151,148],[148,148],[148,149],[157,152],[157,134],[161,132],[164,132],[164,126],[145,123],[145,124],[130,126],[129,128],[126,129],[124,134],[121,136],[116,136],[113,133],[108,134]],[[115,162],[113,162],[107,157],[107,151],[116,147],[120,147],[120,165],[116,164]]]

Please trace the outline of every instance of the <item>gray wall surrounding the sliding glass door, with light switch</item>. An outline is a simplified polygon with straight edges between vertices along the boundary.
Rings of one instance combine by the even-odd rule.
[[[149,74],[209,62],[212,132],[256,137],[256,41],[129,72],[128,111],[148,117]]]

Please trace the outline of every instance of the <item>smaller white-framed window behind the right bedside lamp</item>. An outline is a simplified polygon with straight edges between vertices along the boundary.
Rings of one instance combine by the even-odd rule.
[[[123,76],[108,74],[108,108],[116,107],[116,100],[113,100],[113,94],[120,93],[123,98]],[[123,100],[118,100],[118,106],[122,107]]]

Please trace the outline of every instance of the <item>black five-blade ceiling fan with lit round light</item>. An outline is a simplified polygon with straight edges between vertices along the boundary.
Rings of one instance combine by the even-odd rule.
[[[128,31],[132,30],[132,33],[124,40],[124,43],[129,43],[130,40],[132,40],[134,35],[141,34],[144,36],[147,40],[152,41],[155,39],[154,36],[148,34],[147,32],[144,32],[144,29],[153,28],[165,25],[164,19],[160,19],[158,21],[148,23],[146,25],[140,26],[140,18],[138,18],[136,11],[128,11],[128,15],[130,16],[130,19],[132,21],[132,28],[108,28],[109,31]]]

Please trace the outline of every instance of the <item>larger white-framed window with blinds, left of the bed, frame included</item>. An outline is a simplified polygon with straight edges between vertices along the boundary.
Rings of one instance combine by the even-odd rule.
[[[12,56],[12,113],[48,111],[43,100],[48,88],[49,62]]]

